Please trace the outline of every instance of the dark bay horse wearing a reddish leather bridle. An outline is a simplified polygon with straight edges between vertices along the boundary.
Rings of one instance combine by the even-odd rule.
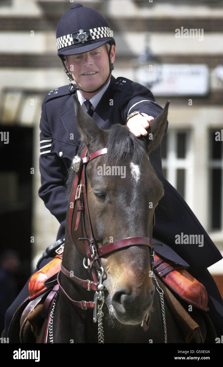
[[[149,154],[161,143],[170,101],[150,122],[148,134],[137,138],[118,123],[101,130],[73,99],[84,144],[67,180],[62,271],[46,342],[184,343],[167,302],[160,305],[160,283],[152,272],[154,211],[164,189]],[[125,177],[111,175],[111,167],[121,166]],[[102,167],[107,174],[99,174]]]

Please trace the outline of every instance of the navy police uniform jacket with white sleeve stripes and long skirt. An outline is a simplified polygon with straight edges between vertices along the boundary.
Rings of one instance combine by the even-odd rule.
[[[145,86],[124,77],[115,79],[111,76],[109,87],[96,106],[92,118],[101,129],[107,130],[112,124],[126,124],[127,115],[134,110],[156,117],[162,108]],[[168,122],[165,134],[167,127]],[[65,236],[68,198],[64,184],[67,169],[81,145],[75,122],[73,97],[68,91],[68,85],[56,88],[45,96],[40,130],[41,187],[38,193],[45,206],[60,222],[57,234],[59,239]],[[149,160],[162,181],[165,192],[155,210],[153,236],[167,246],[159,246],[159,249],[156,247],[156,252],[194,270],[207,268],[222,259],[219,250],[183,197],[164,177],[160,146],[150,153]],[[176,244],[175,236],[181,233],[203,235],[203,246],[196,243]],[[177,254],[183,261],[177,261]]]

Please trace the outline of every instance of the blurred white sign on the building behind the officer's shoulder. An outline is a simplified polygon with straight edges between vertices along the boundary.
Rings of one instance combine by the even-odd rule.
[[[206,95],[209,91],[209,69],[204,64],[143,65],[136,78],[155,96]]]

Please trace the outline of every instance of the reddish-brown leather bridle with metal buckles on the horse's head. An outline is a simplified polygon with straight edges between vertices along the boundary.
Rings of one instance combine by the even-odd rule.
[[[126,151],[128,149],[126,148]],[[57,275],[57,282],[59,284],[60,289],[63,293],[67,296],[67,298],[76,306],[81,309],[92,309],[94,308],[94,322],[97,319],[97,304],[98,301],[102,298],[102,291],[104,289],[103,283],[103,276],[104,276],[104,269],[103,265],[101,264],[100,258],[104,255],[110,254],[113,251],[119,250],[120,248],[125,248],[129,246],[136,246],[136,245],[144,245],[150,247],[150,263],[151,263],[151,270],[153,270],[153,262],[155,258],[155,245],[152,244],[152,240],[150,237],[127,237],[122,240],[118,240],[115,242],[108,243],[100,248],[96,248],[95,241],[92,233],[92,227],[90,224],[90,216],[88,210],[88,201],[87,201],[87,193],[86,193],[86,165],[103,154],[107,153],[107,148],[103,148],[97,150],[96,152],[92,153],[91,155],[87,155],[88,149],[85,147],[81,157],[75,156],[72,160],[72,168],[76,172],[73,184],[73,190],[71,195],[71,202],[70,202],[70,211],[69,211],[69,218],[68,218],[68,230],[70,234],[70,238],[73,239],[73,231],[72,231],[72,224],[74,220],[74,208],[75,203],[77,201],[77,219],[75,223],[74,231],[78,229],[80,221],[82,221],[82,238],[78,240],[84,241],[85,250],[86,250],[86,259],[83,261],[83,265],[86,269],[88,269],[90,276],[93,280],[82,280],[78,277],[74,276],[64,268],[61,264],[61,272],[67,276],[69,279],[73,280],[75,283],[79,284],[81,287],[87,289],[88,291],[93,290],[95,291],[94,301],[75,301],[71,299],[66,291],[63,289],[60,281],[59,281],[59,274]],[[145,153],[146,158],[148,156]],[[83,199],[82,199],[83,196]],[[88,223],[88,230],[89,230],[89,237],[87,237],[86,229],[85,229],[85,220],[84,220],[84,210],[86,213],[87,223]],[[155,214],[153,215],[153,225],[155,224]],[[75,243],[74,243],[75,246]],[[87,265],[85,264],[87,261]]]

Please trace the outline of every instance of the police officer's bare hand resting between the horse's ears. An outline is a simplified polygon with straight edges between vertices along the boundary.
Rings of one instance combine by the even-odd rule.
[[[146,113],[142,112],[142,115],[145,117],[142,117],[141,115],[135,115],[131,117],[128,121],[126,126],[129,128],[129,130],[137,137],[139,138],[141,135],[147,135],[148,132],[145,129],[148,129],[149,122],[154,120],[154,117],[148,116]]]

